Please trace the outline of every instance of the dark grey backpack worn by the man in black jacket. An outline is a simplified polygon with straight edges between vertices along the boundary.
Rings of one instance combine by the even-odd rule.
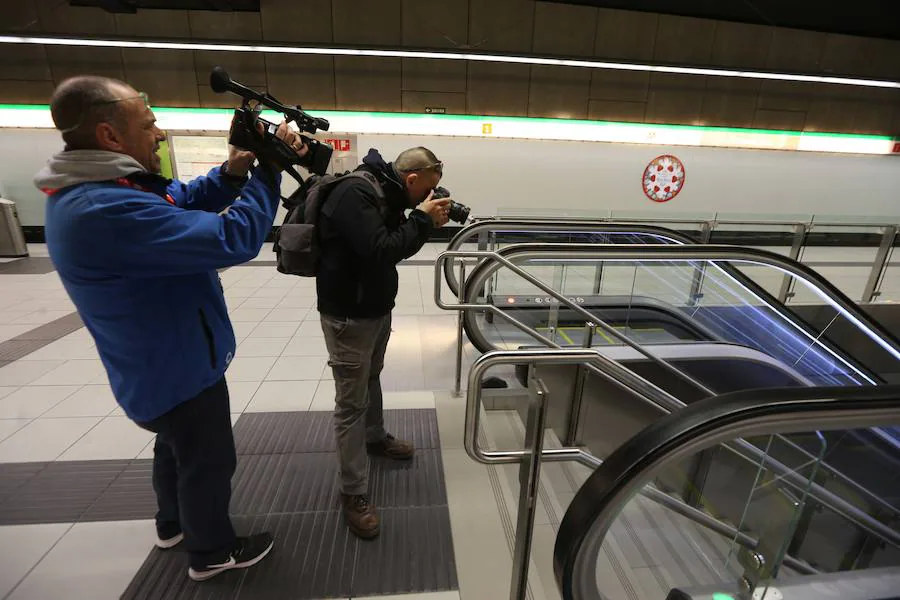
[[[289,198],[283,198],[287,215],[275,232],[275,255],[279,273],[315,277],[319,267],[319,235],[317,231],[322,205],[339,183],[350,178],[367,181],[375,190],[379,205],[384,204],[384,190],[374,175],[353,171],[340,175],[313,176]]]

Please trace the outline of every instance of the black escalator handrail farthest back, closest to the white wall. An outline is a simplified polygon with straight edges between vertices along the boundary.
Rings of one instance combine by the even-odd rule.
[[[532,231],[532,232],[558,232],[558,233],[637,233],[653,235],[657,237],[667,238],[677,244],[693,244],[697,240],[690,237],[666,229],[665,227],[654,227],[652,225],[629,224],[629,223],[610,223],[609,221],[585,220],[553,220],[553,219],[514,219],[509,221],[486,220],[476,221],[466,225],[454,235],[447,244],[447,250],[459,250],[463,244],[480,233],[490,233],[491,231]],[[446,263],[444,265],[444,280],[454,295],[459,295],[459,285],[457,282],[456,272],[453,271],[452,265]]]

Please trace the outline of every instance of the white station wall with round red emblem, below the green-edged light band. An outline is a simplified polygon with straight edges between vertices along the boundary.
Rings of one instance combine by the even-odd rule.
[[[431,148],[445,163],[442,185],[473,215],[900,217],[900,156],[448,136],[355,139],[359,158],[369,148],[388,160],[411,146]],[[17,203],[25,226],[44,223],[45,199],[32,177],[61,147],[53,130],[0,129],[0,196]],[[645,196],[641,180],[647,164],[663,154],[683,162],[686,180],[674,199],[657,203]],[[291,189],[286,177],[285,192]]]

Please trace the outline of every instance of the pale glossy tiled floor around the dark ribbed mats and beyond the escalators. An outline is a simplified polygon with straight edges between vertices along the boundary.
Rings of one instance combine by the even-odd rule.
[[[415,258],[432,259],[443,247],[428,245]],[[815,259],[853,259],[846,249],[827,250],[817,249]],[[41,246],[31,252],[46,256]],[[272,258],[264,250],[258,260]],[[858,268],[846,273],[829,269],[823,273],[833,273],[839,286],[859,283]],[[572,285],[582,285],[591,274],[573,269],[568,276]],[[633,274],[628,277],[634,279]],[[509,593],[512,532],[508,515],[507,520],[499,517],[498,502],[506,507],[502,510],[512,506],[512,484],[508,473],[500,477],[498,471],[472,463],[462,449],[463,406],[447,392],[453,387],[456,317],[435,307],[433,278],[431,266],[400,268],[382,382],[387,408],[438,410],[460,592],[403,600],[494,600]],[[609,285],[618,285],[613,279]],[[244,412],[329,410],[334,383],[325,365],[314,281],[282,276],[271,266],[251,262],[223,272],[222,282],[239,342],[228,374],[233,420]],[[443,297],[450,301],[442,285]],[[900,299],[900,277],[889,278],[885,290],[884,299]],[[0,275],[0,342],[72,311],[55,273]],[[466,353],[471,360],[471,348]],[[84,329],[0,367],[0,462],[151,455],[152,436],[117,408]],[[502,493],[496,491],[501,488]],[[539,519],[536,539],[544,542],[534,559],[540,562],[532,577],[535,599],[556,594],[548,546],[552,549],[553,521],[570,493],[561,492]],[[0,566],[0,600],[116,598],[152,540],[152,524],[144,521],[0,527],[0,547],[7,550]]]

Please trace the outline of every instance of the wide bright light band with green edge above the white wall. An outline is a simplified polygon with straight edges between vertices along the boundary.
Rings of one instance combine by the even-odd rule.
[[[156,108],[159,126],[170,132],[226,132],[233,111],[213,108]],[[887,136],[822,134],[798,131],[654,125],[569,119],[522,117],[477,117],[471,115],[420,115],[310,111],[331,122],[327,139],[340,133],[370,135],[416,135],[521,140],[581,141],[657,146],[700,146],[799,150],[843,154],[890,154],[893,142]],[[277,121],[281,115],[269,111],[263,117]],[[489,127],[485,127],[489,125]],[[46,105],[0,105],[0,128],[53,128]]]

